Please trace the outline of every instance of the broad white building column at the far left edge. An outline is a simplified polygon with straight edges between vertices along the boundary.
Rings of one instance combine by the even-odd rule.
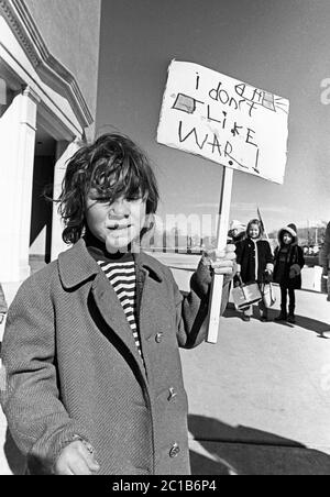
[[[0,119],[1,281],[22,281],[30,275],[31,201],[38,101],[33,89],[25,87]]]

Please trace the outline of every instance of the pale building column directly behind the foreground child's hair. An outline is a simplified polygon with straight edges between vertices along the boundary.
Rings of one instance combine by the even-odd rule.
[[[69,143],[66,141],[57,142],[56,150],[56,164],[54,168],[54,189],[53,189],[53,198],[57,199],[62,191],[62,183],[66,172],[67,162],[73,157],[73,155],[80,148],[81,141],[79,139]],[[52,250],[51,250],[51,258],[52,261],[56,259],[61,252],[66,251],[69,245],[64,243],[62,240],[62,232],[64,229],[64,224],[58,214],[58,203],[54,202],[53,206],[53,223],[52,223]]]

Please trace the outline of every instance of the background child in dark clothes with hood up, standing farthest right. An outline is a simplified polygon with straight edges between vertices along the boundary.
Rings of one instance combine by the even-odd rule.
[[[297,228],[288,224],[278,231],[275,250],[274,281],[280,286],[280,313],[275,321],[295,323],[295,289],[301,288],[301,269],[305,265],[302,248],[298,245]],[[287,313],[287,294],[289,296]]]

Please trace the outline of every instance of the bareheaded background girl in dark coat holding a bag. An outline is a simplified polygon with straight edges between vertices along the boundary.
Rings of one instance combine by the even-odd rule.
[[[271,245],[262,240],[263,230],[258,219],[252,219],[246,228],[245,240],[237,244],[237,279],[248,283],[268,283],[273,273],[273,254]],[[268,319],[267,309],[261,300],[260,312],[262,321]],[[243,311],[243,321],[250,321],[253,314],[253,306]]]

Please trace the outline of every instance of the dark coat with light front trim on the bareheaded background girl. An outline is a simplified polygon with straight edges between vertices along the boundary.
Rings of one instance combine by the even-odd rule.
[[[270,243],[266,240],[253,241],[250,236],[237,243],[237,263],[243,283],[263,283],[266,268],[273,269]]]

